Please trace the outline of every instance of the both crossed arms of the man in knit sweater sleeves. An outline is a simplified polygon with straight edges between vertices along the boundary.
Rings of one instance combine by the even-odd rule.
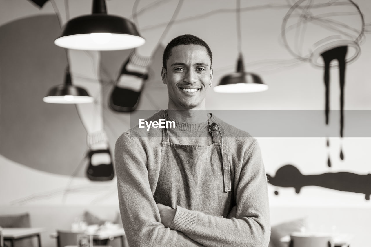
[[[172,209],[154,201],[147,156],[137,139],[123,134],[116,142],[115,166],[122,223],[129,245],[266,247],[270,236],[269,209],[259,146],[247,151],[245,160],[251,165],[246,165],[239,174],[237,205],[229,218],[179,206]]]

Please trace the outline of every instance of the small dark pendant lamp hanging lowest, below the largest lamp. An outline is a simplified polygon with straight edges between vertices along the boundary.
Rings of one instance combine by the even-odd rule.
[[[66,69],[65,84],[57,85],[49,90],[43,98],[46,103],[78,104],[91,103],[94,98],[85,89],[72,85],[69,68]]]

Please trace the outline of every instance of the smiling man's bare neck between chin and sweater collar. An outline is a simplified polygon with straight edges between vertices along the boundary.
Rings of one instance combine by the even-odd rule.
[[[204,104],[191,109],[177,109],[169,104],[167,114],[170,118],[185,123],[202,123],[207,121],[207,112]]]

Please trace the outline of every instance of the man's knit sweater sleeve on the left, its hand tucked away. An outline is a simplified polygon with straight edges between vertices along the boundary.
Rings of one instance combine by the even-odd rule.
[[[138,140],[122,134],[115,145],[115,168],[121,219],[129,246],[202,246],[161,224],[146,164],[147,156]]]

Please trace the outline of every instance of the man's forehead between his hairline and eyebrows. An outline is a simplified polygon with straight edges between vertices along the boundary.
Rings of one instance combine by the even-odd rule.
[[[210,65],[210,57],[204,46],[201,45],[178,45],[171,49],[168,62],[203,62]]]

